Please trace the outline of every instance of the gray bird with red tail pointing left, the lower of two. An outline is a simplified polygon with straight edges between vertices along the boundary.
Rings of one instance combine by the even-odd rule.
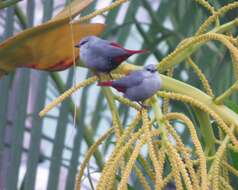
[[[147,65],[143,70],[131,72],[129,75],[112,81],[99,82],[99,86],[111,86],[124,93],[132,101],[142,102],[153,96],[161,87],[161,78],[155,65]]]

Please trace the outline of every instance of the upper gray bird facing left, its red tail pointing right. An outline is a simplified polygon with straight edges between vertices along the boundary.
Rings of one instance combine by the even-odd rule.
[[[108,73],[116,69],[123,61],[134,54],[144,53],[147,50],[129,50],[120,44],[103,40],[96,36],[83,38],[75,47],[80,48],[80,59],[92,69],[96,75],[98,72]]]

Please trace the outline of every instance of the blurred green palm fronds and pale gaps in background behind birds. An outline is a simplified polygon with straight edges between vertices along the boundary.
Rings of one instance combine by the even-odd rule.
[[[0,5],[4,2],[14,1],[1,0]],[[83,15],[110,2],[94,1]],[[234,0],[209,1],[216,8],[229,2]],[[24,0],[0,9],[0,41],[49,20],[67,3],[64,0]],[[237,15],[237,10],[230,12],[222,23]],[[192,0],[130,0],[91,22],[106,23],[102,34],[105,39],[132,49],[149,49],[150,54],[129,60],[144,65],[159,63],[181,40],[194,35],[208,16],[210,13]],[[234,34],[237,35],[237,30]],[[234,82],[229,52],[224,46],[209,42],[193,55],[193,59],[208,77],[216,95]],[[0,190],[74,189],[75,175],[86,150],[111,127],[112,121],[105,97],[95,85],[80,90],[43,119],[38,117],[45,104],[72,87],[73,72],[73,69],[55,73],[18,69],[0,80]],[[77,68],[76,82],[90,74],[84,68]],[[174,77],[201,88],[186,63],[175,68]],[[236,96],[232,98],[238,100]],[[74,104],[78,107],[77,128],[73,127]],[[120,104],[118,109],[126,126],[134,112]],[[170,109],[184,112],[196,122],[188,106],[172,102]],[[187,130],[181,130],[187,145],[191,143],[188,135]],[[92,189],[88,179],[93,183],[97,181],[113,145],[114,139],[109,139],[96,152],[85,173],[83,189]],[[141,189],[133,175],[131,182],[134,189]],[[173,189],[173,186],[168,188]]]

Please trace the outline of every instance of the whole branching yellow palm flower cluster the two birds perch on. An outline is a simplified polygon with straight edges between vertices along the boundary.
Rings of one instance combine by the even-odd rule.
[[[230,51],[234,76],[238,79],[238,38],[226,35],[232,28],[238,26],[238,19],[223,25],[219,24],[219,20],[224,14],[238,8],[238,2],[215,10],[208,1],[195,1],[205,7],[212,15],[201,25],[193,37],[183,40],[171,54],[161,60],[158,65],[158,71],[167,71],[167,77],[162,75],[163,91],[157,92],[148,101],[148,104],[152,107],[151,112],[128,99],[114,95],[109,89],[103,88],[102,91],[107,98],[111,111],[112,129],[102,135],[86,153],[76,179],[76,190],[81,188],[84,169],[89,164],[93,153],[110,134],[115,135],[116,144],[101,171],[97,184],[98,190],[126,190],[132,171],[136,173],[141,185],[146,190],[162,190],[170,182],[175,183],[178,190],[183,190],[184,188],[188,190],[233,189],[229,181],[229,174],[232,173],[238,177],[238,170],[229,163],[227,149],[238,152],[238,139],[235,135],[235,132],[238,130],[238,117],[234,112],[225,107],[223,102],[234,91],[237,91],[238,83],[236,81],[226,92],[218,97],[214,97],[206,76],[192,60],[191,55],[211,40],[222,43]],[[82,17],[80,21],[89,20],[124,2],[126,0],[117,0],[104,9]],[[214,23],[215,28],[206,32],[209,26]],[[174,66],[182,61],[186,61],[194,70],[202,83],[204,92],[172,79]],[[127,64],[124,68],[123,66],[119,67],[116,72],[126,74],[128,70],[134,69],[137,69],[137,67]],[[113,77],[118,78],[120,76],[113,75]],[[91,77],[69,89],[41,111],[40,116],[45,115],[50,109],[54,108],[78,89],[96,81],[96,77]],[[197,96],[199,98],[194,98],[192,95],[189,96],[186,94],[186,91],[189,91],[192,95],[199,94]],[[162,110],[158,105],[159,98],[163,98]],[[209,125],[200,127],[203,129],[210,127],[204,133],[211,134],[215,138],[211,150],[206,150],[206,142],[205,145],[201,143],[201,139],[205,138],[207,134],[202,134],[199,131],[201,129],[195,128],[195,123],[182,113],[169,112],[170,100],[188,104],[208,115]],[[122,127],[115,101],[126,104],[137,111],[137,115],[129,126]],[[213,134],[210,117],[216,122],[214,128],[217,128],[219,135]],[[186,147],[179,132],[176,130],[178,122],[182,123],[185,126],[185,130],[189,132],[193,147]],[[206,125],[205,122],[203,124]],[[199,134],[198,131],[200,132]],[[146,148],[147,154],[141,153],[141,150],[144,150],[144,148]],[[170,169],[168,173],[165,173],[164,168],[168,164]],[[120,179],[118,179],[118,176],[120,176]],[[153,182],[153,188],[149,185],[151,182]]]

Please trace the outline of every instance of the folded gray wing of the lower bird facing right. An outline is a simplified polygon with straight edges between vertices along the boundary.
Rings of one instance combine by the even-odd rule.
[[[142,71],[134,71],[126,77],[113,81],[113,85],[123,88],[130,88],[140,85],[143,82],[143,78]]]

